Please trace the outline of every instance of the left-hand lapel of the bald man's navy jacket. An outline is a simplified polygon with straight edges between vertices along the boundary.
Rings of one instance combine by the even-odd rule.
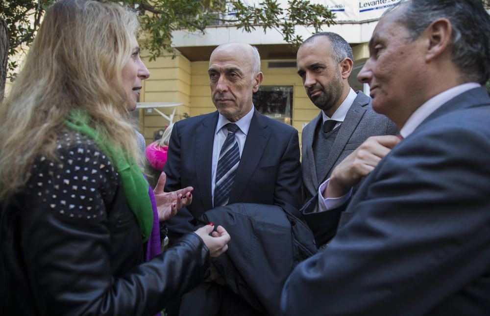
[[[202,192],[204,210],[213,208],[211,201],[211,168],[213,164],[213,142],[216,124],[218,124],[218,111],[209,114],[202,120],[196,129],[196,152],[194,155],[197,184]],[[185,144],[181,144],[185,146]],[[205,166],[205,167],[203,167]]]

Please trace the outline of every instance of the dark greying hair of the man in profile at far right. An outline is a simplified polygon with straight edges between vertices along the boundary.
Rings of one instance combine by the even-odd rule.
[[[490,16],[481,0],[402,0],[398,7],[403,10],[398,22],[407,27],[410,41],[436,19],[449,20],[451,58],[464,79],[485,84],[490,78]]]

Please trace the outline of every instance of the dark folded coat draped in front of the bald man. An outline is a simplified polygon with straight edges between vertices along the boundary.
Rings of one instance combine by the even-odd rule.
[[[231,236],[228,251],[213,260],[226,286],[258,311],[278,315],[294,266],[317,252],[300,212],[289,205],[237,203],[209,210],[200,220]]]

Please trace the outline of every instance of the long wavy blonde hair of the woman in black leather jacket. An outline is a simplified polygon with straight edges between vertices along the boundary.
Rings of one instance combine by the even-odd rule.
[[[141,161],[121,77],[138,27],[135,13],[117,3],[60,0],[49,7],[0,105],[0,201],[25,185],[37,156],[56,159],[56,138],[73,108]]]

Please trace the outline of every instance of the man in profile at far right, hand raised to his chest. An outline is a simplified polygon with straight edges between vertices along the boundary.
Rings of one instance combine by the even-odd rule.
[[[480,0],[403,1],[378,22],[358,78],[404,139],[335,168],[322,198],[340,203],[370,174],[326,211],[337,235],[296,266],[283,315],[490,315],[489,29]]]

